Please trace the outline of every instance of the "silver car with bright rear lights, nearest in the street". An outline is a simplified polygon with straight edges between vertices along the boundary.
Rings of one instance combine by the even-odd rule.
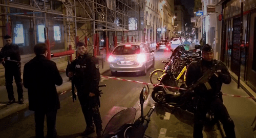
[[[111,74],[117,72],[141,72],[155,66],[154,50],[145,42],[120,43],[108,57]]]

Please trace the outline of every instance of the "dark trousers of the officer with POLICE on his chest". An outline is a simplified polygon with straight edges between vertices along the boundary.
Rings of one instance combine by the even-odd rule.
[[[96,130],[100,131],[102,129],[102,121],[99,112],[99,104],[97,102],[98,97],[89,97],[89,94],[81,93],[80,90],[77,91],[86,125],[87,127],[91,127],[94,123]]]

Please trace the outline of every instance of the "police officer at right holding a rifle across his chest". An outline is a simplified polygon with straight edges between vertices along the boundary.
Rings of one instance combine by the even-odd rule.
[[[202,49],[202,60],[195,61],[189,64],[186,73],[186,85],[190,86],[203,76],[203,73],[209,70],[216,63],[221,62],[213,60],[214,53],[209,44],[205,44]],[[227,67],[221,62],[221,70],[217,71],[207,84],[200,84],[194,91],[198,98],[197,107],[194,113],[194,137],[203,137],[203,122],[206,118],[206,113],[210,109],[215,118],[220,120],[223,124],[224,131],[227,138],[236,137],[234,133],[234,123],[230,118],[228,111],[223,104],[221,96],[222,83],[229,84],[231,77]]]

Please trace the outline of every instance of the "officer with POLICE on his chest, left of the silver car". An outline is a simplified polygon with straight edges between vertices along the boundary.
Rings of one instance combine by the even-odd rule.
[[[68,77],[73,77],[72,81],[76,86],[77,96],[87,124],[86,130],[81,134],[87,136],[93,133],[95,124],[97,137],[101,137],[103,129],[99,112],[98,59],[87,53],[87,47],[83,42],[77,43],[77,52],[78,57],[71,63]]]

